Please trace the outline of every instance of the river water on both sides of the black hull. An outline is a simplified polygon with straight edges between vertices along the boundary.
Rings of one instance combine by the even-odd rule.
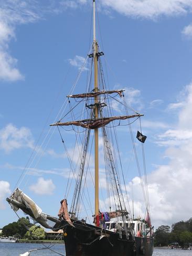
[[[49,246],[49,244],[46,244]],[[33,249],[45,248],[42,244],[34,243],[0,243],[0,256],[19,256]],[[65,245],[55,244],[50,248],[51,250],[37,250],[30,253],[30,256],[56,256],[65,255]],[[59,254],[57,254],[57,253]],[[154,249],[153,256],[192,256],[192,250],[179,250],[179,249]],[[91,256],[91,255],[90,255]],[[119,256],[119,255],[117,255]]]

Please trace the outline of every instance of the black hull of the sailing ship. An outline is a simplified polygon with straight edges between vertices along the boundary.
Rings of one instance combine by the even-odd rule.
[[[82,222],[73,222],[74,228],[66,226],[66,256],[151,256],[154,239],[145,237],[129,237],[109,230],[102,230]],[[103,236],[101,238],[101,236]],[[101,238],[101,239],[100,239]]]

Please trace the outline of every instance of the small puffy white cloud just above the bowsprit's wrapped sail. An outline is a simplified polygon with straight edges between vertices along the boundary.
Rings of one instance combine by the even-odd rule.
[[[56,186],[51,179],[39,178],[37,183],[29,187],[30,190],[38,195],[52,195]]]

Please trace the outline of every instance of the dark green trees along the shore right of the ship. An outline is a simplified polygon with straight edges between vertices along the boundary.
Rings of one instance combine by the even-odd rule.
[[[170,226],[160,226],[155,230],[155,246],[179,244],[185,246],[192,243],[192,218],[179,221]]]

